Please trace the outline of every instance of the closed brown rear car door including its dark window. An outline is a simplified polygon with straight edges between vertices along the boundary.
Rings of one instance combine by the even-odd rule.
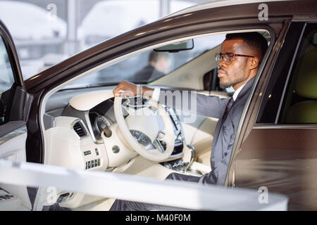
[[[293,22],[256,122],[232,164],[232,185],[289,196],[289,210],[317,209],[317,23]],[[254,110],[255,111],[255,110]]]

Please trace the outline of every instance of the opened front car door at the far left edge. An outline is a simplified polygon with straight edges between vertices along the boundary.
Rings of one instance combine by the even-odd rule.
[[[27,115],[32,100],[25,92],[11,36],[0,21],[0,160],[25,162]],[[32,209],[26,186],[0,184],[0,209]]]

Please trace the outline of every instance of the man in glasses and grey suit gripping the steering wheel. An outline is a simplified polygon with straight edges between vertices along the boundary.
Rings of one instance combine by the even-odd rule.
[[[166,179],[181,181],[192,181],[200,184],[225,184],[232,146],[235,140],[237,126],[242,115],[242,110],[247,102],[249,91],[254,77],[259,69],[261,60],[268,47],[267,41],[257,32],[227,34],[225,41],[221,44],[221,52],[216,54],[220,78],[220,87],[232,86],[235,93],[230,98],[219,98],[218,96],[195,95],[197,108],[189,110],[190,113],[204,115],[206,117],[219,118],[213,136],[211,148],[211,172],[203,176],[189,176],[185,174],[171,173]],[[115,96],[122,96],[120,90],[137,94],[137,86],[130,82],[120,82],[113,91]],[[142,94],[151,96],[159,103],[166,105],[166,90],[142,88]],[[193,99],[189,97],[188,99]],[[175,102],[168,105],[178,108]],[[180,108],[181,109],[181,108]],[[170,207],[135,203],[116,200],[111,210],[170,210]],[[173,208],[172,208],[173,210]],[[175,210],[175,209],[174,209]]]

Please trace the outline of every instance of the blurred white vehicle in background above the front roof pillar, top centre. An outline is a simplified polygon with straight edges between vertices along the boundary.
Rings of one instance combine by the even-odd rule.
[[[182,0],[170,1],[169,4],[170,13],[194,5],[192,2]],[[99,1],[85,16],[78,29],[82,49],[87,49],[159,18],[160,0]]]

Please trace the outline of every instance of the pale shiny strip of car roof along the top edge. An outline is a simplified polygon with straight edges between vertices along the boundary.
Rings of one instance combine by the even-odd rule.
[[[167,15],[165,18],[169,18],[175,15],[181,15],[184,13],[192,13],[194,11],[200,11],[207,8],[218,8],[223,6],[235,6],[235,5],[242,5],[242,4],[254,4],[254,3],[268,3],[273,1],[294,1],[294,0],[216,0],[216,1],[209,1],[205,2],[203,4],[198,4],[195,6],[191,6],[188,8],[184,8],[180,11],[177,11],[175,13],[171,13],[170,15]]]

